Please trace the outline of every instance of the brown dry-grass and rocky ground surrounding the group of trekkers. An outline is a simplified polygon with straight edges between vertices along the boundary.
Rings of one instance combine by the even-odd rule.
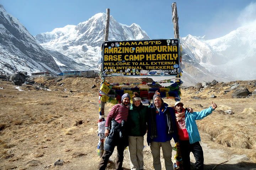
[[[34,81],[36,84],[17,86],[0,79],[0,169],[97,169],[101,79],[38,78]],[[145,80],[111,78],[109,81]],[[247,98],[233,98],[237,90],[245,88],[249,91]],[[212,101],[218,105],[213,114],[197,122],[205,169],[256,169],[255,89],[256,80],[181,89],[181,101],[194,111],[207,108]],[[175,103],[173,99],[164,101],[171,106]],[[106,104],[106,112],[111,106]],[[232,114],[225,113],[228,110]],[[153,160],[149,146],[146,142],[144,145],[144,169],[150,170]],[[114,156],[111,161],[115,160]],[[111,161],[108,169],[114,167]],[[163,158],[161,161],[164,165]],[[194,162],[192,155],[191,162]],[[129,169],[128,150],[123,167]]]

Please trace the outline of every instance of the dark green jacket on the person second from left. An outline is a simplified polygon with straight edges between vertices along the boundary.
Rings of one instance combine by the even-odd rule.
[[[142,103],[138,107],[132,104],[127,118],[128,136],[144,136],[146,134],[148,110],[148,107]]]

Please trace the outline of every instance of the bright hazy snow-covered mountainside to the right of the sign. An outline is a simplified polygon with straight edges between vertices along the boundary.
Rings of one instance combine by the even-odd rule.
[[[256,79],[256,22],[212,40],[181,38],[184,53],[211,74],[231,80]]]

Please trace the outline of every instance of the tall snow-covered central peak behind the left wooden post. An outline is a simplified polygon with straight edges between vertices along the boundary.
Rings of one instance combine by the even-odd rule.
[[[56,28],[52,32],[36,35],[36,39],[45,49],[58,51],[77,63],[85,64],[85,68],[95,69],[98,67],[97,61],[101,58],[100,46],[104,37],[105,20],[105,13],[97,13],[77,26]],[[109,41],[143,39],[150,38],[140,26],[135,23],[127,26],[116,22],[110,16]],[[65,62],[55,58],[59,63]]]

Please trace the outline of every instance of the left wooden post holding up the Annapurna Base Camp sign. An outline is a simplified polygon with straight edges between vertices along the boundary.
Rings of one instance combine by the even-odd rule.
[[[104,31],[104,42],[108,41],[108,30],[109,30],[109,23],[110,23],[110,9],[107,8],[106,9],[106,12],[107,12],[107,17],[106,17],[106,21],[105,21],[105,31]],[[104,82],[105,81],[105,78],[102,79],[102,81]],[[100,102],[100,119],[104,119],[105,117],[105,111],[104,111],[104,108],[105,108],[105,102]],[[101,138],[100,136],[100,158],[102,157],[102,154],[103,154],[103,151],[104,151],[104,139]]]

